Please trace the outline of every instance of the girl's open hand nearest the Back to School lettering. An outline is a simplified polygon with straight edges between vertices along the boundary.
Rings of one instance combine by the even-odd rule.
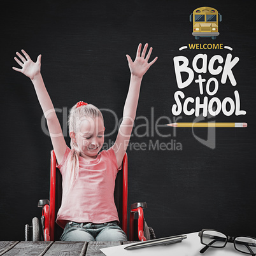
[[[150,58],[153,48],[150,47],[150,50],[148,51],[147,55],[146,48],[148,48],[147,43],[144,46],[143,51],[141,53],[141,43],[139,44],[136,59],[134,60],[134,62],[132,62],[132,59],[129,55],[126,55],[131,74],[138,76],[138,78],[142,78],[143,75],[145,75],[146,71],[150,68],[150,66],[152,66],[157,60],[157,57],[155,57],[155,59],[153,59],[152,62],[148,63],[148,59]]]

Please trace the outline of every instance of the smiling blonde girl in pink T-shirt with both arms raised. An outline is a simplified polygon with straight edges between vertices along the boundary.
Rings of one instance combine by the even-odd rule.
[[[131,81],[123,120],[115,144],[102,152],[105,127],[101,111],[83,101],[71,108],[68,120],[70,149],[40,73],[41,55],[33,62],[22,50],[24,55],[17,52],[20,59],[14,58],[22,68],[13,69],[28,76],[34,85],[50,132],[57,167],[62,174],[62,205],[56,220],[64,228],[62,241],[127,241],[124,231],[118,227],[113,191],[131,137],[141,80],[157,60],[155,57],[148,63],[152,47],[146,55],[147,47],[148,44],[141,53],[139,44],[134,62],[126,55]]]

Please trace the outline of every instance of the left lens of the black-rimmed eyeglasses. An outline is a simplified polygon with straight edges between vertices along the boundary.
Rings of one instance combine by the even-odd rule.
[[[202,243],[211,247],[224,247],[227,236],[218,231],[203,231]]]

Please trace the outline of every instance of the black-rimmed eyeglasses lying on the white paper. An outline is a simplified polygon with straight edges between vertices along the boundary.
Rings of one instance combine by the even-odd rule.
[[[234,243],[234,248],[239,252],[256,255],[256,238],[250,236],[227,236],[226,234],[213,229],[203,229],[198,236],[201,243],[206,245],[200,252],[204,253],[209,247],[223,248],[227,242]]]

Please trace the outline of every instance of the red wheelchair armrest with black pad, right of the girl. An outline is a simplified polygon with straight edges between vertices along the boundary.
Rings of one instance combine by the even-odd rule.
[[[134,203],[131,204],[131,211],[130,211],[130,240],[134,239],[134,215],[138,212],[138,238],[139,241],[146,241],[144,236],[144,213],[143,209],[147,208],[146,203]]]

